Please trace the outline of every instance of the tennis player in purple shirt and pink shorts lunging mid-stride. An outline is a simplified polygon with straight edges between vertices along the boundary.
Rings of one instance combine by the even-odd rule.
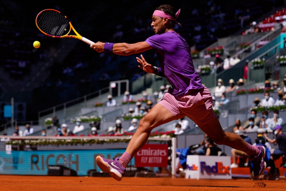
[[[254,175],[259,176],[266,167],[265,148],[252,146],[236,133],[223,131],[212,109],[213,99],[210,91],[200,83],[200,77],[194,70],[190,46],[174,31],[174,25],[179,24],[176,21],[179,13],[180,10],[176,13],[170,5],[158,7],[153,13],[151,23],[155,35],[145,42],[135,44],[97,42],[91,45],[97,52],[107,51],[118,55],[131,55],[154,49],[161,68],[147,63],[142,55],[141,59],[136,58],[140,64],[138,67],[145,72],[167,78],[173,88],[169,88],[163,99],[141,119],[137,131],[120,158],[110,160],[97,156],[96,163],[102,171],[120,181],[125,174],[126,166],[147,142],[152,129],[188,116],[216,144],[224,144],[246,152],[253,162]]]

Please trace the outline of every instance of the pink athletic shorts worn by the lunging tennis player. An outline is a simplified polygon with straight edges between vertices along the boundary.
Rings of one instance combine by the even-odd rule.
[[[192,89],[181,98],[176,98],[169,88],[158,103],[167,108],[177,119],[188,116],[198,126],[207,124],[216,116],[213,112],[212,95],[206,87]]]

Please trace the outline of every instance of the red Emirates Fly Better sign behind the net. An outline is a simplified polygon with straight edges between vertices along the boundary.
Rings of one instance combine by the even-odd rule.
[[[167,167],[167,165],[167,144],[145,144],[135,155],[136,167]]]

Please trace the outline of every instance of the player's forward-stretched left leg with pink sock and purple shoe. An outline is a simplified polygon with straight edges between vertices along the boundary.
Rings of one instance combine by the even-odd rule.
[[[114,160],[104,159],[101,156],[96,157],[96,163],[99,168],[109,173],[114,179],[120,181],[126,170],[126,166],[131,161],[132,157],[145,145],[151,130],[164,123],[170,122],[174,119],[179,119],[174,116],[168,109],[161,104],[156,104],[149,113],[147,113],[141,120],[138,129],[132,136],[126,152],[119,158]]]

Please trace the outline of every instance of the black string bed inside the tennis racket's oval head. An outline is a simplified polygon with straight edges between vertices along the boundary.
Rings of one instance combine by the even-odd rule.
[[[39,15],[37,25],[44,33],[52,36],[61,36],[65,31],[69,32],[69,20],[55,11],[45,11]]]

